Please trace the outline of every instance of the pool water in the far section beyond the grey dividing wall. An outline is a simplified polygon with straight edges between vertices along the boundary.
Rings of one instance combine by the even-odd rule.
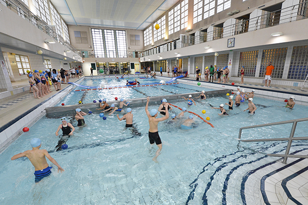
[[[86,79],[82,81],[81,85],[84,86],[100,86],[108,85],[108,87],[123,86],[126,85],[126,80],[134,80],[134,78],[124,79]],[[159,79],[137,79],[140,84],[159,84]],[[176,80],[173,82],[176,83]],[[93,103],[93,100],[99,101],[99,99],[106,99],[107,101],[118,99],[135,99],[143,97],[153,97],[162,95],[183,94],[192,92],[212,91],[213,89],[204,88],[200,86],[191,86],[187,84],[174,84],[174,85],[159,85],[159,86],[147,86],[147,87],[129,87],[129,88],[116,88],[116,89],[103,89],[103,90],[85,90],[76,87],[67,96],[65,96],[56,106],[65,105],[77,105],[81,100],[83,104]]]

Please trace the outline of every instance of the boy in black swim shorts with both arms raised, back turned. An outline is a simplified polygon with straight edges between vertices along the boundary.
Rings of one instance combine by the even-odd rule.
[[[158,122],[169,118],[169,112],[168,112],[168,109],[166,109],[166,107],[165,107],[166,116],[161,117],[161,118],[156,118],[157,115],[158,115],[158,111],[156,109],[152,109],[150,112],[148,111],[149,101],[150,101],[150,98],[147,97],[146,98],[145,112],[146,112],[146,115],[149,118],[149,126],[150,126],[150,128],[149,128],[149,141],[150,141],[150,144],[153,145],[154,142],[155,142],[157,147],[158,147],[158,150],[156,151],[155,157],[153,157],[153,159],[152,159],[153,161],[157,162],[156,159],[157,159],[158,155],[160,154],[160,152],[162,150],[162,141],[161,141],[161,138],[159,137],[157,126],[158,126]]]

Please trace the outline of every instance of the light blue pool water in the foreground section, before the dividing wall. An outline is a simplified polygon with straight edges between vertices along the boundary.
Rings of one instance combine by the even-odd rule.
[[[225,96],[210,97],[188,108],[203,118],[210,117],[215,128],[197,117],[191,130],[180,129],[184,119],[160,122],[163,149],[158,163],[152,161],[157,146],[149,144],[144,107],[132,108],[134,130],[124,128],[125,121],[116,115],[105,114],[106,120],[97,114],[87,115],[83,128],[76,127],[69,116],[76,130],[67,141],[68,149],[59,152],[53,152],[59,140],[54,133],[61,120],[43,117],[0,155],[0,204],[243,204],[242,177],[276,160],[264,153],[283,151],[286,142],[239,143],[239,128],[306,117],[308,108],[296,105],[294,110],[285,109],[284,103],[255,97],[255,115],[243,112],[247,103],[227,110],[229,116],[219,116],[219,110],[211,109],[227,102]],[[184,99],[170,103],[187,108]],[[149,110],[159,105],[150,102]],[[180,110],[173,108],[172,113]],[[244,130],[242,138],[287,137],[291,127]],[[306,127],[307,122],[299,122],[295,137],[305,136]],[[50,151],[65,169],[57,173],[53,166],[52,174],[37,185],[28,159],[10,160],[30,149],[33,137],[40,137],[42,149]],[[294,141],[291,152],[306,146],[305,141]]]

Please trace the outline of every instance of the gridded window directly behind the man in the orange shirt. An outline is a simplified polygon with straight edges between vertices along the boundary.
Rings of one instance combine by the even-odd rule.
[[[264,76],[268,61],[272,61],[272,65],[274,66],[272,78],[282,78],[286,52],[287,48],[263,50],[259,77]]]

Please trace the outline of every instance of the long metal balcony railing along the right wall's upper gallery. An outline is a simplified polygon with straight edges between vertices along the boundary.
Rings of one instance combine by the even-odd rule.
[[[139,55],[139,57],[176,50],[179,48],[210,42],[220,38],[235,36],[246,32],[256,31],[305,19],[308,18],[308,1],[273,12],[263,12],[265,12],[265,14],[254,18],[243,19],[240,21],[235,19],[239,22],[225,27],[209,27],[207,30],[210,29],[210,31],[197,36],[181,35],[178,40],[144,51]],[[146,59],[147,58],[145,58],[145,60]]]

